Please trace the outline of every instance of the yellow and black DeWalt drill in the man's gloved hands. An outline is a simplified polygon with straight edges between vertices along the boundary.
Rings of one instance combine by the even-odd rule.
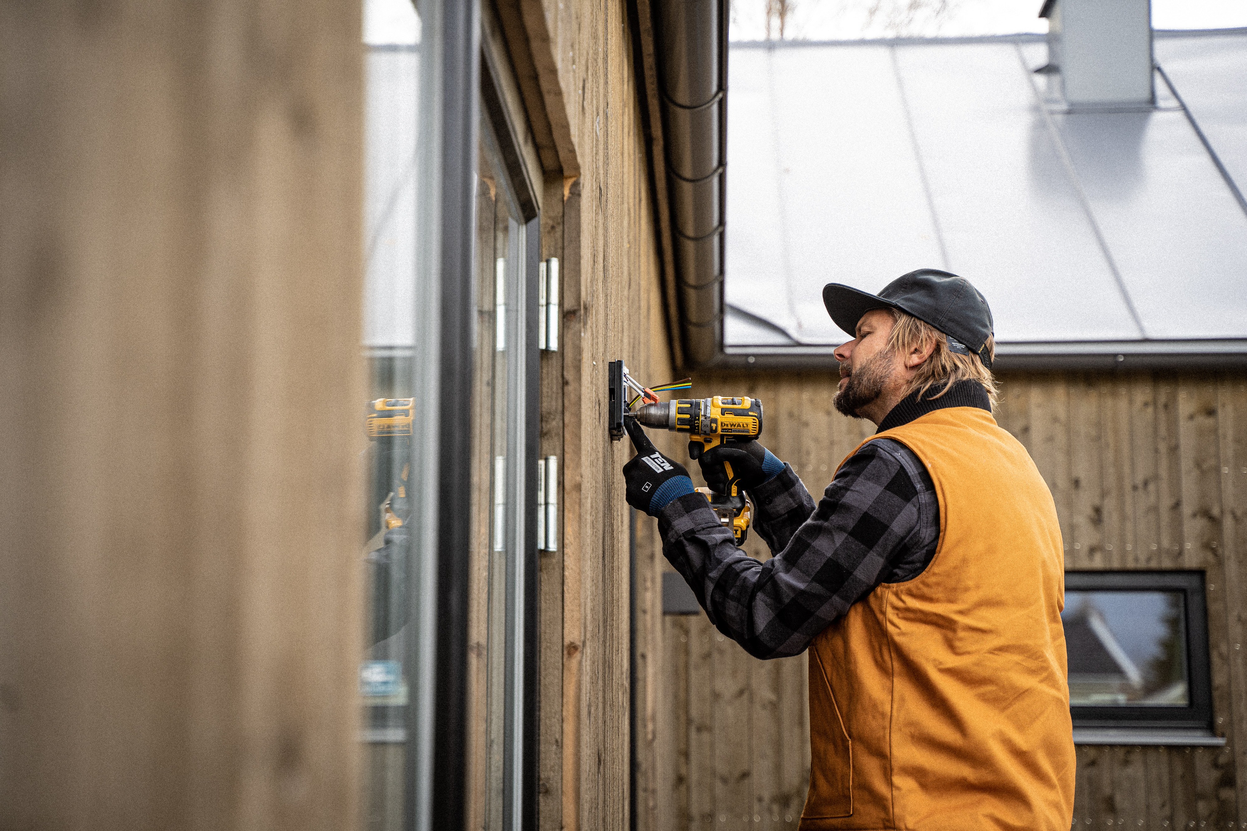
[[[646,427],[690,434],[691,458],[700,458],[725,441],[749,441],[762,435],[762,401],[748,396],[675,399],[646,404],[633,410],[632,415]],[[732,465],[723,462],[723,467],[727,470],[727,493],[715,493],[708,487],[698,487],[697,491],[710,500],[718,521],[732,529],[736,544],[743,546],[749,534],[752,506],[737,486]]]

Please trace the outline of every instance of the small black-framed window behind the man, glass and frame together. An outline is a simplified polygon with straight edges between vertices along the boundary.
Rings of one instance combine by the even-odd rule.
[[[1066,572],[1075,739],[1143,730],[1211,736],[1202,572]]]

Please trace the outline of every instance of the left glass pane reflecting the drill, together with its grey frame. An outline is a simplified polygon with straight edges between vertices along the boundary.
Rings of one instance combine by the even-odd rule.
[[[475,4],[364,1],[364,827],[464,812]],[[469,90],[468,93],[456,91]],[[463,244],[465,243],[465,244]],[[448,419],[446,414],[451,417]],[[461,495],[461,496],[456,496]]]

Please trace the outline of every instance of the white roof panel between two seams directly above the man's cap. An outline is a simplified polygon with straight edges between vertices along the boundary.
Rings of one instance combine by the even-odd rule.
[[[1016,46],[914,46],[897,61],[945,268],[988,298],[996,336],[1139,338]]]

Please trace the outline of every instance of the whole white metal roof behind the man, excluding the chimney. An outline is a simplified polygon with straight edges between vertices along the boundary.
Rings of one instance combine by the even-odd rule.
[[[826,353],[824,283],[935,267],[1001,358],[1247,354],[1247,30],[1157,35],[1156,107],[1099,112],[1042,36],[733,45],[726,350]]]

